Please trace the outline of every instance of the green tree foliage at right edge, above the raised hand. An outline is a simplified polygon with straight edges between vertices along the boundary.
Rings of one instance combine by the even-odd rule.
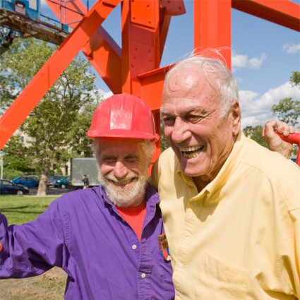
[[[300,72],[293,72],[289,81],[292,86],[298,86],[300,88]],[[280,100],[279,104],[274,104],[271,110],[280,121],[295,126],[299,121],[300,101],[287,97]]]

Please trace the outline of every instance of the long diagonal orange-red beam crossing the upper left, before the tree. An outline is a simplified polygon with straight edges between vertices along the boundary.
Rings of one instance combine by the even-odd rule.
[[[114,1],[118,4],[119,1]],[[117,3],[118,2],[118,3]],[[32,78],[30,83],[20,93],[0,119],[0,149],[6,144],[20,124],[25,121],[32,109],[40,102],[49,88],[59,78],[80,49],[87,44],[90,37],[112,12],[115,5],[107,5],[98,1],[80,21],[75,30],[69,35],[61,46],[52,54],[40,71]]]

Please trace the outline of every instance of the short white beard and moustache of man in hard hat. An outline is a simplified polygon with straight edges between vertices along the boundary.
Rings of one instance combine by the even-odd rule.
[[[130,179],[138,179],[136,182],[131,184],[131,186],[119,186]],[[104,187],[109,200],[114,203],[114,205],[120,208],[127,208],[130,206],[137,206],[143,202],[145,198],[145,188],[147,185],[147,170],[145,174],[136,174],[135,172],[129,172],[124,179],[118,180],[112,174],[103,176],[100,172],[98,173],[98,180],[100,184]],[[113,181],[113,182],[112,182]],[[115,183],[115,184],[114,184]],[[119,184],[119,185],[118,185]]]

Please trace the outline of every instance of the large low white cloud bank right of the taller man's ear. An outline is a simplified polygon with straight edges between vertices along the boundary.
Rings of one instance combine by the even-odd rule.
[[[277,88],[272,88],[263,95],[256,92],[241,90],[241,127],[264,125],[268,119],[274,119],[275,116],[271,112],[273,104],[278,104],[285,97],[292,97],[298,100],[300,98],[300,90],[298,87],[292,87],[287,82]],[[300,119],[299,119],[300,121]]]

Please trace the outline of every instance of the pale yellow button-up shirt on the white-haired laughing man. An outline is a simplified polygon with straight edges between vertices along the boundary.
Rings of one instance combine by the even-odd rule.
[[[172,149],[152,168],[176,299],[297,299],[300,168],[239,133],[198,193]]]

